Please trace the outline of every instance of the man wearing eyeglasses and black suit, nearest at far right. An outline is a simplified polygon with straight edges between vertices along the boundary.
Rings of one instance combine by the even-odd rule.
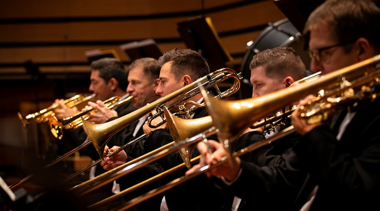
[[[329,0],[305,24],[311,70],[326,74],[380,54],[380,9],[366,0]],[[373,93],[378,87],[372,87]],[[373,95],[375,96],[375,95]],[[300,101],[305,104],[307,99]],[[332,114],[330,122],[307,124],[292,114],[292,124],[302,136],[286,165],[258,167],[239,157],[206,172],[227,181],[228,190],[257,207],[278,206],[289,197],[292,207],[283,210],[378,210],[380,205],[380,100],[356,100]],[[198,144],[200,166],[212,165],[225,155],[218,142],[213,151]]]

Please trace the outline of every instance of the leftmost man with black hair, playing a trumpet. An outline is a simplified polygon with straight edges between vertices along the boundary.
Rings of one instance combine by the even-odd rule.
[[[88,102],[89,106],[97,105],[97,112],[90,114],[89,121],[93,123],[103,123],[111,117],[124,116],[136,109],[133,107],[133,103],[127,102],[118,106],[114,110],[109,110],[107,113],[105,112],[106,106],[103,103],[104,100],[114,96],[119,96],[122,100],[129,96],[126,91],[128,86],[127,76],[128,74],[124,64],[114,58],[102,58],[91,63],[91,83],[89,91],[96,94],[98,105],[93,102]],[[62,103],[62,101],[62,99],[57,99],[55,101],[55,103],[60,105],[59,108],[54,110],[55,116],[58,120],[72,116],[78,112],[76,107],[68,108]],[[65,129],[63,134],[63,143],[66,146],[71,144],[76,147],[85,141],[89,141],[87,140],[87,135],[82,127],[77,129]],[[110,144],[112,144],[112,146],[121,145],[122,142],[110,142]],[[99,159],[99,155],[93,146],[86,147],[80,150],[80,152],[90,156],[93,161]],[[94,166],[90,170],[89,177],[92,178],[104,172],[105,171],[101,166]],[[97,201],[112,195],[111,189],[112,186],[103,187],[102,190],[99,190],[96,194],[92,195],[91,200]]]

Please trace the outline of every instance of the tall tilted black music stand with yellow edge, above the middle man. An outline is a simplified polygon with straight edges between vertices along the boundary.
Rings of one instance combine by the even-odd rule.
[[[198,51],[207,60],[210,70],[224,68],[232,61],[229,52],[223,46],[210,17],[197,16],[177,23],[178,32],[187,48]]]

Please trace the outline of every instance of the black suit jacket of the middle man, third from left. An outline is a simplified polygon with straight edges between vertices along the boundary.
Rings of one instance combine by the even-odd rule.
[[[206,109],[199,108],[195,110],[193,119],[207,115]],[[216,137],[214,136],[212,139],[216,139]],[[144,147],[147,151],[150,151],[171,142],[173,142],[173,137],[170,135],[170,131],[157,129],[151,132]],[[192,157],[198,155],[199,151],[195,148]],[[178,151],[175,151],[164,156],[162,159],[158,160],[157,163],[160,164],[163,170],[168,170],[174,166],[182,164],[183,160]],[[183,176],[186,170],[187,168],[181,169],[176,173],[171,174],[171,176],[165,178],[163,183]],[[164,194],[169,210],[217,210],[216,207],[223,207],[225,205],[224,193],[210,182],[210,179],[205,175],[199,175],[179,184]]]

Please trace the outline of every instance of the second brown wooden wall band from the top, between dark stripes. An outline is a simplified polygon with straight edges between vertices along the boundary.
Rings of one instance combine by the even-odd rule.
[[[267,8],[267,10],[263,10],[263,8]],[[206,14],[206,16],[211,17],[218,33],[252,28],[284,18],[284,15],[272,2],[260,2],[228,11]],[[194,16],[145,20],[0,24],[0,40],[11,43],[64,43],[180,38],[177,23],[191,17]]]

